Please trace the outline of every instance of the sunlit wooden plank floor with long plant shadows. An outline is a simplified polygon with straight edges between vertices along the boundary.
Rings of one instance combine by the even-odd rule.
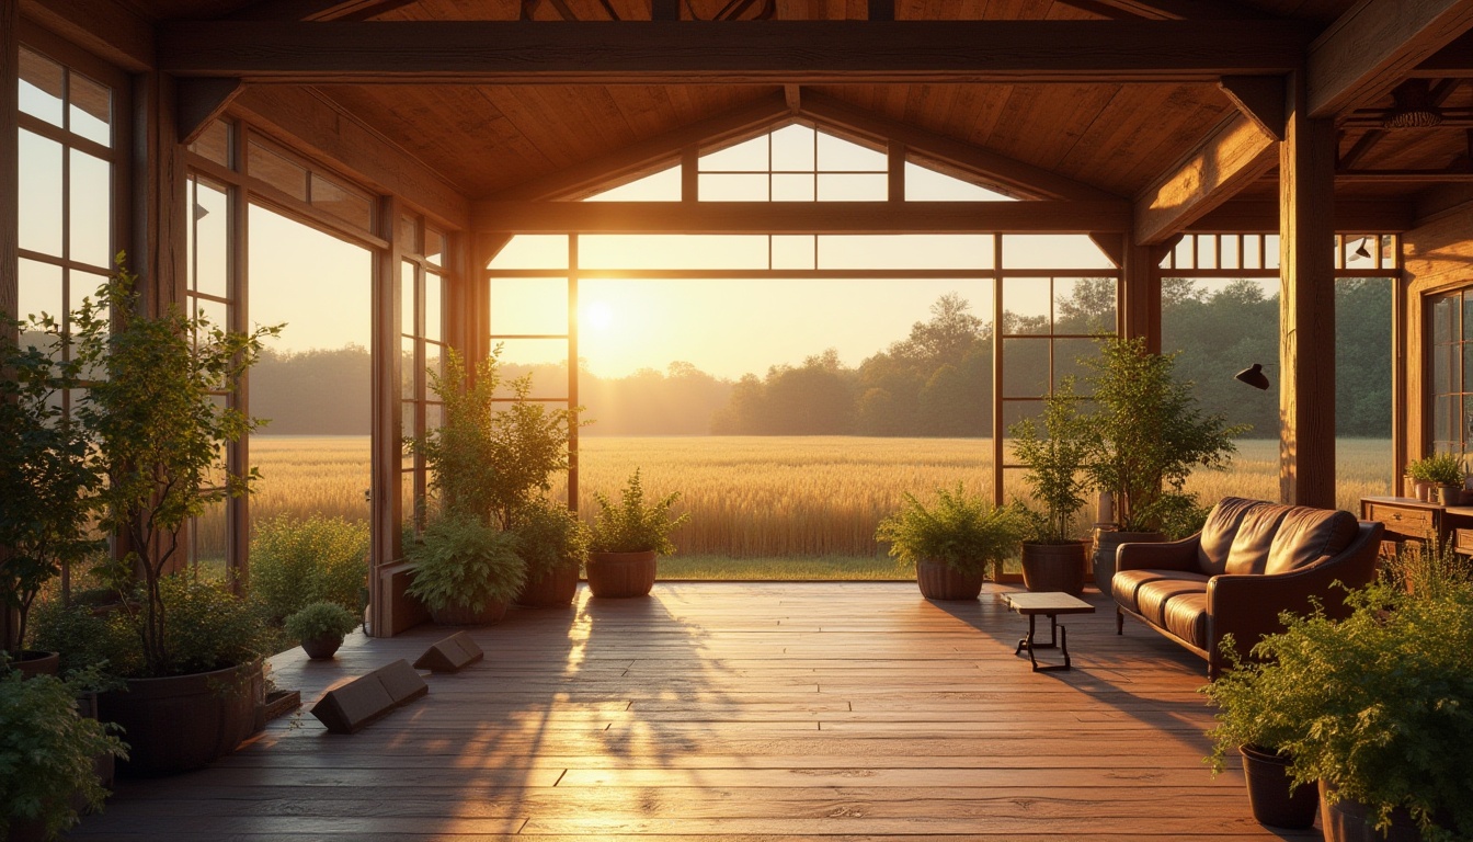
[[[486,661],[354,736],[278,720],[208,770],[119,782],[78,839],[611,842],[1318,839],[1212,780],[1203,662],[1114,610],[1064,618],[1074,669],[1031,672],[987,585],[658,584],[513,610]],[[446,634],[274,659],[305,700]],[[1055,655],[1056,656],[1056,655]]]

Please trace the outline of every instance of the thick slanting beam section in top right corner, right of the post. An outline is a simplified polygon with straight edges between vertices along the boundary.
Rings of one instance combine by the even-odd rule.
[[[1386,96],[1473,27],[1473,0],[1360,0],[1309,47],[1308,116],[1339,116]]]

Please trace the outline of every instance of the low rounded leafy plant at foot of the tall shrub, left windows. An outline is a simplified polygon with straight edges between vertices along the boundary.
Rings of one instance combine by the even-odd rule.
[[[414,565],[409,596],[435,610],[468,608],[480,612],[510,602],[526,581],[513,532],[489,526],[468,513],[439,518],[405,550]]]

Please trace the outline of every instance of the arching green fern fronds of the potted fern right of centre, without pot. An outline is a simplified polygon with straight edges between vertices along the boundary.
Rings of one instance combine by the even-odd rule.
[[[890,541],[890,554],[906,565],[935,559],[959,574],[975,574],[1010,556],[1024,528],[1015,510],[994,509],[957,484],[956,491],[938,488],[929,509],[907,493],[904,507],[879,522],[875,540]]]

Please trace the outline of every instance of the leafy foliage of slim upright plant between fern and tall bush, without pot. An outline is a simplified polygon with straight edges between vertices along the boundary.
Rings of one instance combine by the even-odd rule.
[[[1022,481],[1041,504],[1031,509],[1018,501],[1015,516],[1025,525],[1033,543],[1065,544],[1072,540],[1074,516],[1084,507],[1084,479],[1080,469],[1089,456],[1089,422],[1080,413],[1074,377],[1064,377],[1043,404],[1041,431],[1034,419],[1024,419],[1008,429],[1013,459],[1027,467]]]

